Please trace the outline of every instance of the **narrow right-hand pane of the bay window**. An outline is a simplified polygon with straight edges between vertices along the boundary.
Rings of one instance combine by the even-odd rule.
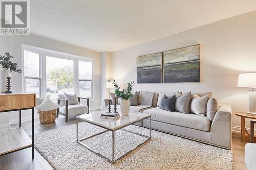
[[[78,61],[79,95],[84,98],[92,97],[92,62]]]

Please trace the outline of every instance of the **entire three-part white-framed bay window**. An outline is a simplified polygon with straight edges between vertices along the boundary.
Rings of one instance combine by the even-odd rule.
[[[93,60],[23,45],[23,91],[57,98],[57,94],[77,92],[93,98]]]

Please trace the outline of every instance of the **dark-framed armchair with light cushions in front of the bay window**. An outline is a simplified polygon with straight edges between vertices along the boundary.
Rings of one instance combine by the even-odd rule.
[[[69,105],[69,101],[65,99],[64,94],[58,94],[57,100],[58,100],[58,105],[61,107],[57,109],[57,115],[56,117],[61,115],[65,115],[66,117],[66,122],[68,122],[68,117],[69,116],[74,116],[74,115],[80,115],[84,113],[89,113],[89,98],[81,98],[78,97],[78,102],[79,104],[75,105]],[[87,100],[87,105],[80,104],[81,99],[86,99]]]

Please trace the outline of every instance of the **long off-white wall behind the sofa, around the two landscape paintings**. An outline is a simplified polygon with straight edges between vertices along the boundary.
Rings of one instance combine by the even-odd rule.
[[[232,106],[232,125],[239,125],[234,113],[247,111],[248,93],[237,87],[237,79],[256,70],[255,18],[256,11],[112,52],[112,77],[122,85],[136,82],[136,57],[201,44],[200,83],[136,84],[134,89],[213,91],[220,103]]]

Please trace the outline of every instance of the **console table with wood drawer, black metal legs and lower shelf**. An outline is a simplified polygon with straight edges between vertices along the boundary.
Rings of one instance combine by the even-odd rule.
[[[34,159],[34,107],[36,94],[33,93],[0,93],[1,112],[19,111],[19,128],[0,131],[0,156],[32,147]],[[32,110],[32,140],[22,128],[22,110]]]

